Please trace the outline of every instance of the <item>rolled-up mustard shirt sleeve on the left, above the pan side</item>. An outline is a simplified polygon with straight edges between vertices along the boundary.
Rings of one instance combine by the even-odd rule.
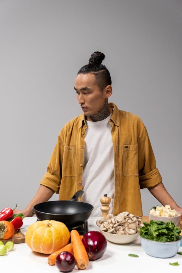
[[[40,182],[40,185],[47,186],[53,189],[56,193],[59,193],[61,185],[62,149],[64,149],[64,146],[60,136],[58,136],[58,141],[47,166],[47,172],[44,174]]]

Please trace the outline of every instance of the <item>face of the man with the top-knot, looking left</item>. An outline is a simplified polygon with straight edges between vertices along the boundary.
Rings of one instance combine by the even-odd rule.
[[[74,89],[85,116],[97,114],[107,99],[104,90],[100,91],[92,73],[77,75]]]

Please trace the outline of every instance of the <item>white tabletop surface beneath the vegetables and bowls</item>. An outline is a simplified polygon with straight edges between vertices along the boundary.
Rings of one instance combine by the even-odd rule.
[[[99,230],[96,225],[98,217],[90,217],[88,220],[89,231]],[[23,219],[23,227],[21,230],[26,234],[26,230],[29,225],[37,220],[36,217],[26,217]],[[137,238],[134,242],[127,245],[113,244],[107,241],[107,249],[104,255],[96,260],[89,262],[88,267],[84,272],[94,273],[128,273],[128,272],[182,272],[182,256],[176,254],[172,258],[160,259],[148,256],[140,244],[140,238]],[[182,247],[178,251],[182,252]],[[137,254],[139,258],[128,256],[129,253]],[[36,253],[32,251],[26,243],[15,244],[14,249],[7,252],[4,256],[0,256],[0,272],[33,272],[33,273],[47,273],[56,272],[59,273],[59,269],[54,266],[50,266],[47,263],[47,257],[49,255]],[[171,266],[169,262],[179,262],[180,266]],[[5,271],[6,270],[6,271]],[[161,272],[162,272],[161,271]],[[78,269],[75,266],[73,273]],[[79,272],[81,272],[79,270]]]

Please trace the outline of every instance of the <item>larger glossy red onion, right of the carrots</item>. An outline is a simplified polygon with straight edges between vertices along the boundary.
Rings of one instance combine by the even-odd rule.
[[[82,243],[91,261],[102,257],[107,247],[106,238],[99,231],[87,232],[83,236]]]

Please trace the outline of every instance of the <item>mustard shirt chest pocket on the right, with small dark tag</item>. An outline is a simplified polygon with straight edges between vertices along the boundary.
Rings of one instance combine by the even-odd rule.
[[[138,176],[138,145],[123,145],[123,175],[126,177]]]

